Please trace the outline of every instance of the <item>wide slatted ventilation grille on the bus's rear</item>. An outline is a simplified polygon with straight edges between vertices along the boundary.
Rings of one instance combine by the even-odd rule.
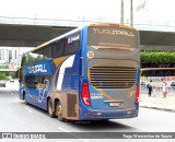
[[[136,82],[136,69],[131,67],[92,67],[90,80],[96,88],[130,88]]]

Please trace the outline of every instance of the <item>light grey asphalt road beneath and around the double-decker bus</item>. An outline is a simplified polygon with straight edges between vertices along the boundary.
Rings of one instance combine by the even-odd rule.
[[[18,92],[0,88],[0,132],[175,132],[174,121],[175,113],[140,108],[139,117],[132,119],[60,122],[25,105]]]

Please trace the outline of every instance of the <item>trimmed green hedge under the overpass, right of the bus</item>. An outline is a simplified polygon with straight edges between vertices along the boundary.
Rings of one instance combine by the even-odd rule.
[[[174,63],[175,52],[140,52],[141,63]]]

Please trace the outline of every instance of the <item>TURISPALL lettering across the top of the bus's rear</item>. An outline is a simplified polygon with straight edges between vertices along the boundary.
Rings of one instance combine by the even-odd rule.
[[[100,28],[93,28],[93,31],[95,34],[124,35],[124,36],[135,37],[135,34],[132,34],[132,32],[127,32],[127,31],[100,29]]]

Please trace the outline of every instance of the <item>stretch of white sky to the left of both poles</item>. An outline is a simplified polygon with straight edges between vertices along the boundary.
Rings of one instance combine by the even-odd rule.
[[[0,0],[0,15],[58,19],[71,16],[114,16],[116,0]],[[8,8],[8,9],[7,9]],[[115,12],[115,13],[114,13]],[[113,14],[112,14],[113,13]],[[65,17],[66,19],[66,17]]]

